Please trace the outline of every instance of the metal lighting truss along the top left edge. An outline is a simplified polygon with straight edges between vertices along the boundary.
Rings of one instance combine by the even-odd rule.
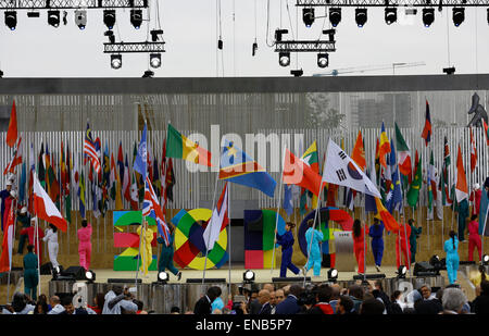
[[[0,10],[148,8],[148,0],[0,0]]]

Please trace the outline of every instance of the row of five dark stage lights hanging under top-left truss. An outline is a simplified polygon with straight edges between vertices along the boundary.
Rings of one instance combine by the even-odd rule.
[[[27,16],[39,17],[39,12],[29,12]],[[103,23],[105,26],[112,30],[115,25],[116,14],[115,10],[104,10],[103,11]],[[130,23],[136,28],[139,29],[142,24],[142,10],[130,10]],[[5,11],[4,22],[10,30],[15,30],[17,26],[17,12],[16,11]],[[67,24],[66,12],[63,12],[63,22]],[[61,23],[61,12],[59,10],[48,11],[48,24],[53,27],[59,27]],[[87,26],[87,11],[76,10],[75,11],[75,24],[80,30],[84,30]]]

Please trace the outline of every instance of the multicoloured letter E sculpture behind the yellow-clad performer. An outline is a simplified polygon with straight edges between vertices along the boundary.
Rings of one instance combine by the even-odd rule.
[[[151,217],[146,217],[150,226],[155,226]],[[141,212],[140,211],[114,211],[113,215],[114,228],[122,231],[120,227],[129,225],[141,225]],[[156,246],[156,231],[154,232],[153,241],[151,246]],[[114,271],[136,271],[138,267],[138,253],[139,253],[140,237],[137,233],[114,233],[114,247],[127,248],[121,254],[114,257]],[[139,259],[139,265],[141,260]],[[153,260],[149,266],[149,271],[158,271],[158,257],[153,256]]]

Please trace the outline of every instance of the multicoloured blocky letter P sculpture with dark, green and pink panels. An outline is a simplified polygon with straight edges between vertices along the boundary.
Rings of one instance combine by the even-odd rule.
[[[273,210],[244,210],[244,269],[272,267],[276,215]],[[280,215],[277,231],[285,233]]]

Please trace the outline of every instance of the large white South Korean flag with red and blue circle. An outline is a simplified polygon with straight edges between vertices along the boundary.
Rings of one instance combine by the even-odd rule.
[[[359,165],[331,139],[326,153],[323,181],[381,198],[377,187]]]

